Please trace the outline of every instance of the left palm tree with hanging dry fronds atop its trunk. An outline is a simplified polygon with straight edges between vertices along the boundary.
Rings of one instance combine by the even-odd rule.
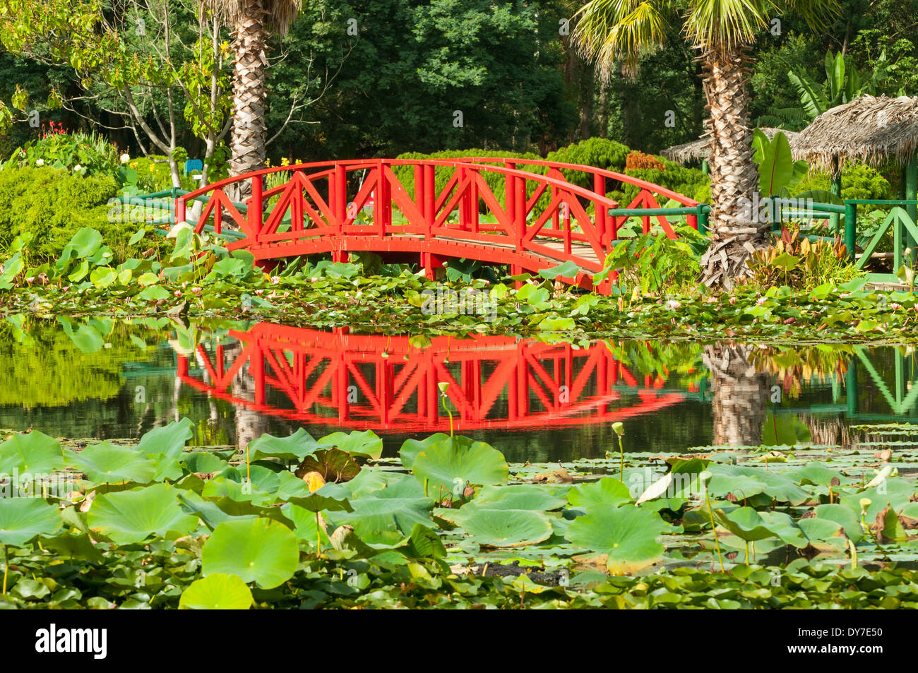
[[[229,174],[264,167],[267,127],[264,124],[268,65],[266,42],[283,35],[297,17],[301,0],[202,0],[233,31],[233,124]]]

